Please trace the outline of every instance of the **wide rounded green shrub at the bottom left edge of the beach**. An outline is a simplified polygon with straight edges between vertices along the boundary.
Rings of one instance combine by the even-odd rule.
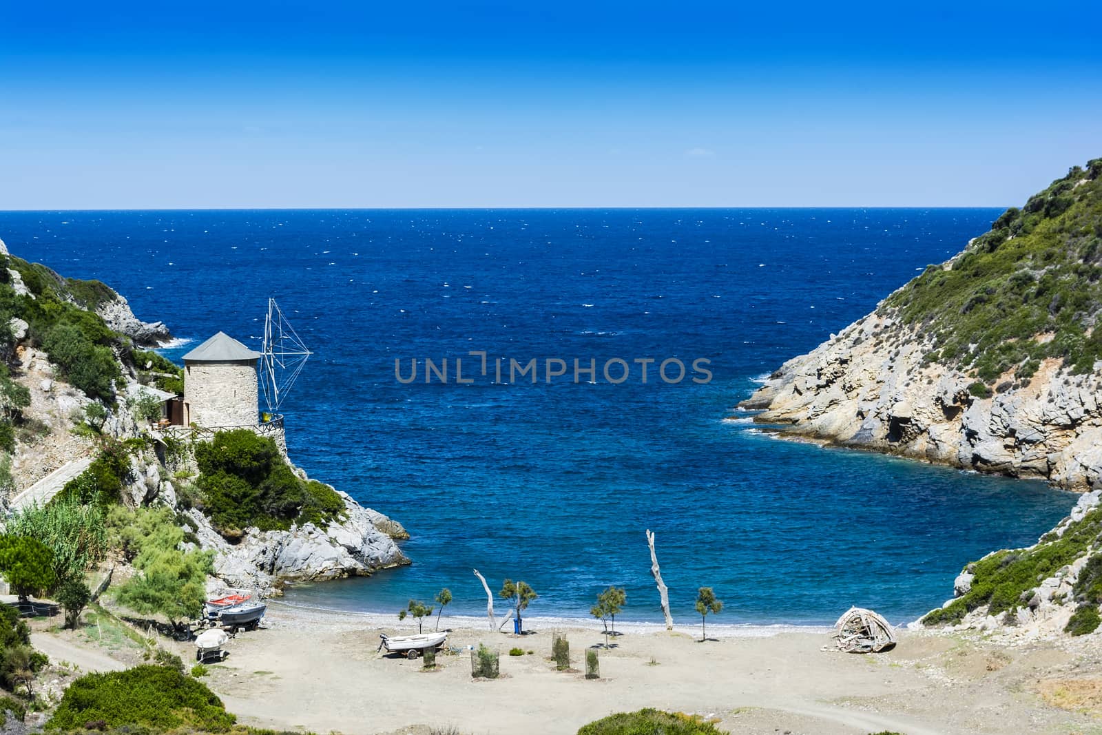
[[[65,690],[46,729],[83,731],[85,723],[96,721],[107,727],[222,733],[236,718],[202,682],[172,667],[147,664],[80,677]]]

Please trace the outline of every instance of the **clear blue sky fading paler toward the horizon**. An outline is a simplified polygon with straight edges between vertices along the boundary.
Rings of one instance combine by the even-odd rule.
[[[0,209],[1004,206],[1102,3],[8,3]]]

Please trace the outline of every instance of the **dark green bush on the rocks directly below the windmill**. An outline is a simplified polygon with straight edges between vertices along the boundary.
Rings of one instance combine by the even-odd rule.
[[[276,442],[248,429],[219,431],[195,447],[203,510],[227,538],[250,526],[288,529],[292,522],[325,526],[345,512],[332,488],[303,480],[283,461]]]

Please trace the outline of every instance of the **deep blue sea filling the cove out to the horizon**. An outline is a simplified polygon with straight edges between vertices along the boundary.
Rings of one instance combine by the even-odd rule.
[[[645,529],[674,614],[698,586],[717,621],[833,621],[851,604],[912,619],[962,564],[1031,543],[1074,498],[1040,483],[764,435],[733,408],[807,352],[987,229],[997,209],[199,210],[0,213],[15,255],[100,279],[179,337],[259,346],[276,296],[315,355],[289,394],[288,444],[320,479],[393,516],[409,568],[292,592],[397,612],[471,573],[539,593],[530,615],[658,620]],[[184,345],[169,350],[181,355]],[[487,377],[477,357],[488,355]],[[457,383],[454,359],[464,359]],[[493,382],[505,359],[506,385]],[[410,360],[450,363],[411,383]],[[509,385],[509,359],[539,382]],[[568,375],[544,381],[543,361]],[[573,381],[573,359],[596,380]],[[613,385],[602,366],[625,360]],[[648,381],[636,359],[652,358]],[[658,363],[710,360],[678,383]],[[553,364],[557,365],[557,364]],[[623,372],[614,364],[612,376]],[[478,368],[476,370],[476,368]],[[668,376],[676,377],[676,364]],[[701,374],[698,374],[701,377]]]

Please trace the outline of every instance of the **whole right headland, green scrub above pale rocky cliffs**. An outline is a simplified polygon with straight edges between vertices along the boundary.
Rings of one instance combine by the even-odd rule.
[[[743,408],[829,442],[1087,489],[1102,477],[1102,159],[1014,207]]]

